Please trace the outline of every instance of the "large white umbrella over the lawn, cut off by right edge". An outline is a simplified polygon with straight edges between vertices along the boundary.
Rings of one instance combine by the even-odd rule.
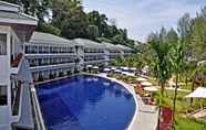
[[[205,87],[198,87],[193,93],[185,97],[194,97],[194,98],[206,98],[206,88]]]

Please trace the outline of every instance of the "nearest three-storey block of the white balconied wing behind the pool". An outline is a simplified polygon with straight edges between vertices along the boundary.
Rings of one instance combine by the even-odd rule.
[[[33,32],[23,45],[34,82],[42,82],[71,74],[76,66],[74,42],[47,33]]]

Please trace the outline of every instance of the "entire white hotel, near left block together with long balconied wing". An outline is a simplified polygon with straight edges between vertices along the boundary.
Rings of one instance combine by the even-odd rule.
[[[38,129],[42,117],[33,84],[107,66],[131,48],[90,40],[65,40],[34,32],[38,20],[0,1],[0,130]]]

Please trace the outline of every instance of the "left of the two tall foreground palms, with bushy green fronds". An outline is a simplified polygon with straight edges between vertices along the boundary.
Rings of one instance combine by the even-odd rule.
[[[164,88],[171,77],[169,51],[172,45],[165,41],[165,31],[150,35],[148,43],[154,51],[154,75],[161,84],[159,111],[163,106]],[[159,119],[158,119],[159,121]]]

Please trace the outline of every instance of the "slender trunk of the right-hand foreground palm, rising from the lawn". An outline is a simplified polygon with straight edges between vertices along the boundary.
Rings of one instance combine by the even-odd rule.
[[[175,111],[176,111],[176,98],[177,98],[177,83],[178,83],[178,74],[176,74],[175,79],[175,96],[173,99],[173,129],[175,130]]]

